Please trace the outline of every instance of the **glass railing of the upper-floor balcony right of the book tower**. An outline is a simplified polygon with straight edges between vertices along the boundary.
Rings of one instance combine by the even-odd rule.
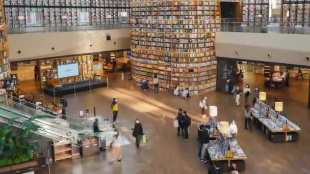
[[[310,22],[299,21],[306,20],[298,18],[248,22],[243,19],[222,19],[221,32],[310,34]]]

